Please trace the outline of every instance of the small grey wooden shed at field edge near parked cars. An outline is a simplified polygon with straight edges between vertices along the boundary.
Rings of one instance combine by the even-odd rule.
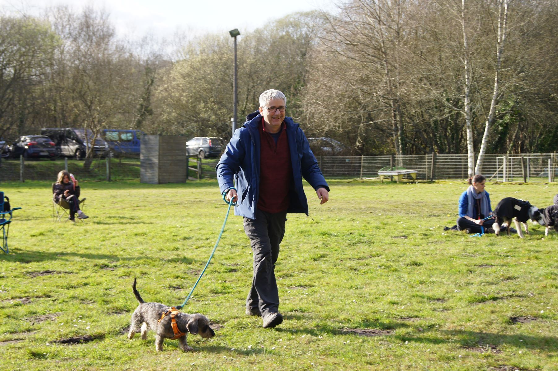
[[[140,181],[163,184],[186,181],[186,137],[146,135],[141,139]]]

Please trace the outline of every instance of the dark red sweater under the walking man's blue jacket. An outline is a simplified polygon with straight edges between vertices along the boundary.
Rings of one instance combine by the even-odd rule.
[[[292,183],[291,154],[288,150],[285,123],[275,139],[266,132],[263,118],[259,126],[259,198],[258,209],[279,213],[288,209],[288,192]]]

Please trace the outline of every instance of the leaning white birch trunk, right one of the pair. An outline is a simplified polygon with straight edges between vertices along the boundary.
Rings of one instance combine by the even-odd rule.
[[[494,91],[492,93],[492,100],[490,101],[490,110],[488,112],[487,121],[484,127],[484,135],[482,143],[480,144],[479,157],[477,159],[477,166],[475,166],[475,173],[480,174],[484,162],[484,155],[488,146],[488,134],[490,127],[494,123],[494,113],[496,113],[496,105],[499,103],[501,93],[499,91],[500,83],[500,70],[502,66],[502,54],[504,51],[504,41],[506,41],[506,26],[508,18],[509,0],[499,0],[498,8],[498,42],[496,44],[496,71],[494,71]]]

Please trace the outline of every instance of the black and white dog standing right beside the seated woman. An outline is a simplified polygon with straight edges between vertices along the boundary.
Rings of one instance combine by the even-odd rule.
[[[518,200],[513,197],[506,197],[498,203],[498,206],[494,209],[494,217],[496,221],[492,225],[492,228],[494,228],[494,234],[497,236],[500,235],[500,227],[502,224],[508,226],[506,232],[509,236],[509,224],[512,219],[516,223],[517,234],[520,238],[523,238],[523,234],[521,233],[521,227],[519,227],[519,221],[521,221],[523,227],[525,227],[525,234],[529,234],[527,228],[527,220],[529,219],[531,219],[533,223],[544,225],[541,209],[531,205],[529,201]]]

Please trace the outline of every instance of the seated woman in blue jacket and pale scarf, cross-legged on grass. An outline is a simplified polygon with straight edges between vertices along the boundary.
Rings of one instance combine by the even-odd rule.
[[[459,197],[457,229],[466,230],[467,233],[494,233],[494,219],[483,220],[492,215],[490,196],[484,190],[485,177],[477,174],[470,177],[468,182],[469,188]]]

